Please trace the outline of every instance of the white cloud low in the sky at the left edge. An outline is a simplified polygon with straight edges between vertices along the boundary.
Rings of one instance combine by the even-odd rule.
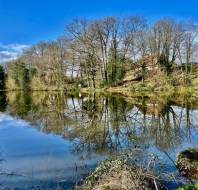
[[[0,42],[0,63],[16,59],[28,47],[25,44],[3,44]]]

